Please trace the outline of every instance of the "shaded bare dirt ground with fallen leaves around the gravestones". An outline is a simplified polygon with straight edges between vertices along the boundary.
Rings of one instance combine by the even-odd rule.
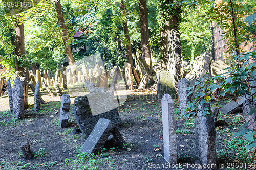
[[[70,127],[65,129],[60,129],[58,123],[61,103],[59,97],[51,98],[46,91],[42,91],[46,104],[42,105],[39,112],[33,109],[33,98],[30,92],[29,108],[22,120],[17,120],[10,114],[8,97],[0,98],[0,169],[176,169],[165,166],[166,162],[162,157],[161,103],[155,100],[155,92],[129,91],[126,102],[117,108],[123,121],[120,132],[127,142],[127,151],[120,151],[112,145],[106,146],[102,153],[90,157],[80,150],[84,137],[70,134],[77,124],[73,114],[75,98],[71,98]],[[178,104],[175,101],[178,164],[187,163],[187,166],[179,166],[177,169],[197,169],[193,168],[193,165],[198,164],[193,149],[194,118],[180,116]],[[244,140],[241,137],[230,139],[231,134],[238,131],[244,122],[241,114],[219,114],[218,120],[217,169],[230,169],[231,163],[244,165],[252,162],[244,149]],[[23,158],[19,148],[23,141],[30,143],[34,159]],[[219,168],[220,164],[225,164],[225,168]],[[233,169],[249,168],[240,165],[240,168]]]

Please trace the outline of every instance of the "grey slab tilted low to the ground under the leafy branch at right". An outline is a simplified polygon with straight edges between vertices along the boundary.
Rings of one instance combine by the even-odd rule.
[[[245,102],[245,97],[239,97],[236,102],[231,101],[222,108],[220,108],[221,113],[223,114],[233,114],[234,112],[242,109],[243,103]]]

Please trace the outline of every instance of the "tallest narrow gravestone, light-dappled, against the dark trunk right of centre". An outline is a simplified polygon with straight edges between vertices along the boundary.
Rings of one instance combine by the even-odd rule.
[[[176,30],[171,30],[170,34],[168,35],[167,70],[174,76],[176,91],[178,91],[178,82],[180,80],[180,47],[180,34]]]

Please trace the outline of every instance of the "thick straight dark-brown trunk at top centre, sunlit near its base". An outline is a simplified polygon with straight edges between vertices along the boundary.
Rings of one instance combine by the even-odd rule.
[[[142,56],[145,58],[148,68],[153,69],[150,54],[150,44],[148,43],[150,34],[148,31],[146,0],[139,0],[139,11]]]

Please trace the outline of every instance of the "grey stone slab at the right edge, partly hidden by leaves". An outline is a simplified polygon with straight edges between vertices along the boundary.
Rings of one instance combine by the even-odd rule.
[[[250,102],[248,99],[246,99],[243,103],[243,114],[245,116],[246,122],[249,122],[248,129],[255,130],[256,127],[256,113],[253,113],[248,116],[248,113],[250,112],[251,108],[255,106],[255,103]]]

